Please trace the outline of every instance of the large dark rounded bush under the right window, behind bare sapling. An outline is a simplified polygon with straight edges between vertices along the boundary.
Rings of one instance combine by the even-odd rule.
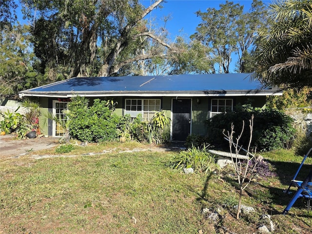
[[[270,151],[278,148],[290,148],[294,140],[295,129],[292,127],[293,119],[281,111],[269,109],[254,109],[250,105],[236,109],[234,112],[218,114],[207,121],[210,143],[220,148],[226,148],[227,142],[223,139],[223,130],[230,130],[234,123],[236,132],[242,129],[242,122],[248,122],[254,115],[254,134],[252,147],[258,151]],[[249,130],[241,137],[242,146],[249,142]],[[234,135],[234,138],[237,134]]]

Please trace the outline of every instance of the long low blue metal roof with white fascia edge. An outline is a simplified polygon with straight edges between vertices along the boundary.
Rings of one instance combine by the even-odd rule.
[[[225,95],[273,94],[251,81],[250,73],[173,76],[70,78],[19,92],[20,96],[126,96],[126,95]]]

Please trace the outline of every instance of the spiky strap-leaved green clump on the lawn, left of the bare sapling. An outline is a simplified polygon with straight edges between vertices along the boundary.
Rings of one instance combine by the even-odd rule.
[[[211,172],[216,167],[216,157],[207,151],[208,148],[209,145],[204,145],[202,149],[192,146],[173,157],[167,166],[172,169],[193,168],[195,172],[205,174]]]

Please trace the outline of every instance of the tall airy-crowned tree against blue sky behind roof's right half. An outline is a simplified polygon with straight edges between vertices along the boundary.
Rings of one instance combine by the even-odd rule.
[[[253,0],[249,12],[243,11],[243,6],[226,1],[219,9],[208,8],[206,12],[198,11],[201,23],[197,26],[191,39],[212,49],[211,58],[215,60],[218,73],[229,73],[233,54],[238,55],[237,71],[249,72],[248,61],[254,34],[258,27],[264,24],[265,11],[262,1]]]

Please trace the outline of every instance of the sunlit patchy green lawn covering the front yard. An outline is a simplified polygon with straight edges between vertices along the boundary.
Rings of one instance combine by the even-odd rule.
[[[289,215],[279,215],[291,199],[282,190],[302,160],[293,152],[263,155],[277,176],[254,180],[243,203],[257,213],[235,220],[231,207],[238,196],[230,169],[184,175],[165,166],[177,152],[117,153],[139,146],[147,147],[137,143],[90,144],[68,154],[115,150],[99,155],[2,160],[0,233],[196,234],[202,230],[213,234],[221,229],[256,233],[261,214],[273,215],[275,233],[310,233],[312,214],[300,201]],[[311,163],[308,158],[306,164]],[[221,221],[210,221],[201,212],[205,207],[219,209]]]

